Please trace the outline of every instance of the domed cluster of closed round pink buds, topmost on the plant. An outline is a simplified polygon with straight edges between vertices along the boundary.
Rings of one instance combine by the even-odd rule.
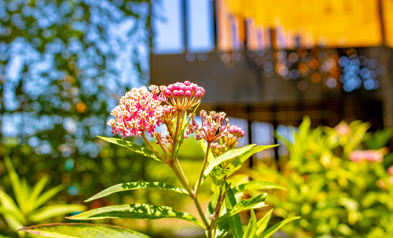
[[[185,81],[184,83],[169,84],[167,87],[162,88],[162,93],[169,98],[167,103],[178,112],[181,112],[198,104],[203,95],[205,95],[205,90],[197,84]]]

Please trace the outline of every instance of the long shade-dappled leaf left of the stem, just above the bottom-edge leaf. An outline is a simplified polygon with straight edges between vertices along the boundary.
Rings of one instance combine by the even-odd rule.
[[[143,203],[101,207],[69,216],[72,220],[94,220],[101,218],[127,218],[154,220],[160,218],[178,218],[206,228],[198,218],[187,212],[177,212],[172,207],[155,206]]]

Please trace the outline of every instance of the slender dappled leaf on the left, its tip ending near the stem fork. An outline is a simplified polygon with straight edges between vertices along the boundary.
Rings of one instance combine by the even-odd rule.
[[[167,183],[160,183],[160,182],[134,182],[134,183],[120,183],[118,185],[114,185],[108,189],[103,190],[102,192],[99,192],[89,198],[86,201],[93,201],[97,198],[102,198],[105,196],[108,196],[112,193],[115,192],[122,192],[122,191],[128,191],[128,190],[133,190],[133,189],[165,189],[165,190],[171,190],[174,192],[180,192],[183,194],[188,194],[187,190],[182,189],[180,187],[176,187]]]

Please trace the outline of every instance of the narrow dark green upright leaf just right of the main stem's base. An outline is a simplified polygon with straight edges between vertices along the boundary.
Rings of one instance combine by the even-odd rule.
[[[228,183],[226,183],[225,185],[226,187],[228,187]],[[233,193],[233,190],[229,188],[228,191],[226,192],[226,198],[225,198],[225,205],[227,211],[231,211],[233,207],[236,206],[236,204],[237,202],[236,202],[235,194]],[[228,212],[226,214],[228,214]],[[243,236],[242,221],[240,220],[239,214],[234,214],[233,216],[230,216],[228,218],[228,221],[224,221],[224,220],[220,221],[220,218],[217,220],[217,223],[219,224],[224,222],[229,223],[229,227],[232,230],[233,237]]]

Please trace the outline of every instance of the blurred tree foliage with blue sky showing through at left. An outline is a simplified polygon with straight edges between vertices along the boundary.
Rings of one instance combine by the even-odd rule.
[[[48,188],[68,186],[63,203],[149,180],[140,156],[96,135],[110,136],[105,123],[119,97],[149,82],[151,1],[1,0],[0,20],[1,157],[31,184],[48,174]],[[130,157],[139,162],[131,167]],[[13,196],[0,163],[1,187]],[[111,199],[100,203],[121,198]]]

